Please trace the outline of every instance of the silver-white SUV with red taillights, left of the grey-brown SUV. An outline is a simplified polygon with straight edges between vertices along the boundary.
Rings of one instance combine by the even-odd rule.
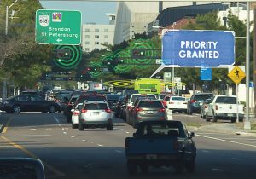
[[[113,113],[107,101],[84,101],[79,113],[79,130],[107,128],[113,130]]]

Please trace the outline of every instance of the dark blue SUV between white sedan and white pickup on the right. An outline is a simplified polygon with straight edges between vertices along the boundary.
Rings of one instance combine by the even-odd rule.
[[[200,113],[202,103],[212,96],[212,93],[196,93],[192,95],[188,101],[187,113],[189,115],[192,113]]]

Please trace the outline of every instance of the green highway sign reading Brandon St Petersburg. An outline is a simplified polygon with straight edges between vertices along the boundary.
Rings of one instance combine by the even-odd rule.
[[[81,44],[81,12],[38,9],[36,42],[39,44]]]

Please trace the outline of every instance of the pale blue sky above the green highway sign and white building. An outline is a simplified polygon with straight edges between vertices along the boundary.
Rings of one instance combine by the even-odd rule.
[[[39,0],[44,9],[80,10],[82,23],[108,24],[106,13],[116,13],[115,2],[45,1]]]

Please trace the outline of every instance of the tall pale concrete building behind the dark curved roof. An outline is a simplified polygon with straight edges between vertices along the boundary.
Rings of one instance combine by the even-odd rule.
[[[119,2],[113,44],[127,41],[135,33],[147,32],[148,23],[154,21],[163,9],[193,4],[195,2]]]

